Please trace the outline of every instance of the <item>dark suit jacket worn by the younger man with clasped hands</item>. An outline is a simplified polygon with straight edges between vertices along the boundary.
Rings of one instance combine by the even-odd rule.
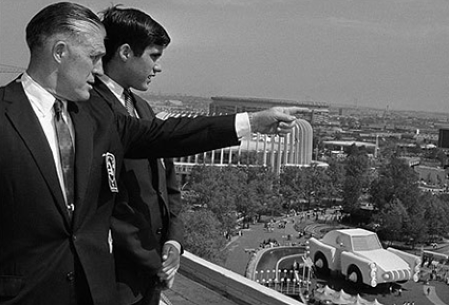
[[[95,91],[117,112],[126,108],[101,81]],[[136,110],[140,119],[153,120],[155,114],[137,95]],[[163,165],[164,164],[164,165]],[[117,283],[122,304],[134,304],[148,289],[155,288],[161,267],[161,249],[167,240],[182,244],[184,225],[178,218],[181,194],[171,159],[123,161],[121,191],[111,221]]]

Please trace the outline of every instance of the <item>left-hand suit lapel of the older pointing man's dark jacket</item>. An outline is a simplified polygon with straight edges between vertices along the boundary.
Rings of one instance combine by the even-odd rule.
[[[6,113],[7,117],[28,147],[47,183],[49,191],[56,198],[58,210],[65,217],[68,224],[64,195],[56,172],[52,150],[19,81],[12,83],[6,88],[5,100],[10,102]]]

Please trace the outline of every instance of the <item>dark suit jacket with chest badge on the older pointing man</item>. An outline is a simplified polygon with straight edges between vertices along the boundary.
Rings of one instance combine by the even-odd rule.
[[[234,116],[136,120],[94,93],[68,107],[76,138],[69,223],[51,149],[22,85],[0,87],[1,304],[71,304],[75,292],[94,304],[117,302],[107,242],[116,193],[105,153],[115,156],[118,176],[124,157],[176,157],[238,143]]]

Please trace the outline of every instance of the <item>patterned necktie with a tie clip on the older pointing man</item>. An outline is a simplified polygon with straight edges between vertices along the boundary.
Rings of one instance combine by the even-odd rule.
[[[59,155],[61,158],[61,167],[64,175],[65,195],[67,199],[67,214],[69,218],[71,218],[74,211],[73,201],[75,154],[68,125],[62,117],[64,104],[61,100],[56,99],[53,107],[55,109],[55,126],[59,144]]]

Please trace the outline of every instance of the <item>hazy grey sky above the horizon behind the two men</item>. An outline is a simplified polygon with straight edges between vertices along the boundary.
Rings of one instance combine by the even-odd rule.
[[[139,8],[171,37],[153,92],[449,113],[449,0],[114,1],[76,2]],[[0,0],[0,69],[26,68],[24,29],[51,3]]]

